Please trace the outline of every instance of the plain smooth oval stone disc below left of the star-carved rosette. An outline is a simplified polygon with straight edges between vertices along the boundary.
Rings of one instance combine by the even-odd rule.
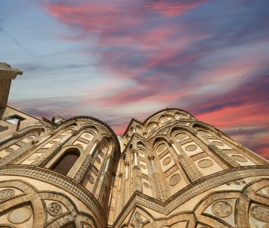
[[[8,221],[14,224],[21,224],[28,221],[30,217],[32,217],[32,212],[29,208],[16,208],[8,214]]]

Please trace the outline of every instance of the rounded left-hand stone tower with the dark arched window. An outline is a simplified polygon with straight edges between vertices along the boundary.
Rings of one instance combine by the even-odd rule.
[[[0,227],[106,227],[120,144],[102,121],[43,119],[0,145]]]

